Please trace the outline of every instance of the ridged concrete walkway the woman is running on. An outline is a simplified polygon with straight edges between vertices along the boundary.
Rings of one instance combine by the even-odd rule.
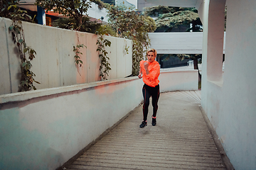
[[[200,91],[162,93],[156,126],[142,106],[64,169],[225,169],[199,105]]]

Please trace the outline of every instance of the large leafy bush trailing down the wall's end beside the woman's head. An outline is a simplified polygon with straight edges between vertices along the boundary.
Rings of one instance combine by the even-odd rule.
[[[117,30],[118,35],[133,41],[132,45],[132,74],[139,74],[139,64],[149,48],[149,32],[154,32],[156,24],[149,16],[127,8],[126,6],[109,6],[107,8],[110,26]]]

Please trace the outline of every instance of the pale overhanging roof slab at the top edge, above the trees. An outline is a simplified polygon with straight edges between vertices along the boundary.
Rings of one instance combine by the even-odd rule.
[[[161,6],[196,7],[199,8],[203,0],[144,0],[150,4]]]

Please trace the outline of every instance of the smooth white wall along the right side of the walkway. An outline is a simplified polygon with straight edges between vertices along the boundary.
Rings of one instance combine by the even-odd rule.
[[[214,8],[214,4],[211,5]],[[226,5],[225,72],[221,75],[222,80],[208,79],[208,64],[214,64],[209,62],[209,56],[215,51],[209,54],[213,46],[203,42],[206,51],[203,53],[201,105],[234,168],[256,169],[256,1],[227,0]],[[209,18],[218,18],[216,13],[220,12],[209,13]],[[203,18],[207,20],[208,16]],[[203,28],[205,30],[206,26]],[[210,40],[217,42],[217,37]],[[209,36],[206,34],[205,38]]]

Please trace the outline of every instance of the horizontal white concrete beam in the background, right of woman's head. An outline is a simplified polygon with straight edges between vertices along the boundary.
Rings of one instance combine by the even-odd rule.
[[[149,33],[149,38],[151,47],[156,49],[158,54],[203,53],[203,33],[201,32]],[[225,53],[225,43],[223,45],[223,53]]]

